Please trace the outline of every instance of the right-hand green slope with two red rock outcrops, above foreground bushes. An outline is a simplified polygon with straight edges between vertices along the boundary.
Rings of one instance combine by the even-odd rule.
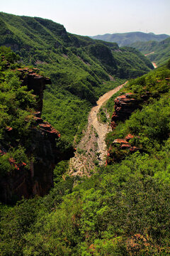
[[[106,139],[110,146],[108,164],[136,151],[150,154],[152,146],[159,150],[169,139],[169,81],[168,63],[131,80],[115,98],[113,132]]]

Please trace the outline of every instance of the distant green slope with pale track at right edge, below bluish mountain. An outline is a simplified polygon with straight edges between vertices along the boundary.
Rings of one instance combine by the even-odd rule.
[[[131,47],[140,50],[141,53],[147,55],[147,58],[157,65],[163,65],[170,58],[170,37],[161,42],[137,42],[132,43]]]

